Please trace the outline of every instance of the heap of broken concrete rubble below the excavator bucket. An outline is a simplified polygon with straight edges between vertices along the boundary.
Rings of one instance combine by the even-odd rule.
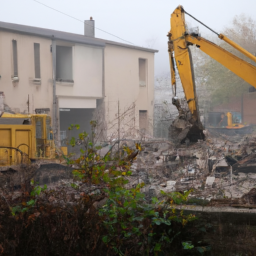
[[[160,191],[193,189],[192,197],[208,200],[242,198],[256,185],[256,136],[209,135],[205,141],[179,145],[142,142],[133,163],[130,185],[145,183],[148,197]],[[240,202],[240,203],[239,203]],[[243,204],[237,201],[237,204]]]

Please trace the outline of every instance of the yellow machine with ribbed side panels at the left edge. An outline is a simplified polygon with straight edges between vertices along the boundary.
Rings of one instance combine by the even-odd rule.
[[[0,166],[54,159],[51,118],[46,114],[0,116]]]

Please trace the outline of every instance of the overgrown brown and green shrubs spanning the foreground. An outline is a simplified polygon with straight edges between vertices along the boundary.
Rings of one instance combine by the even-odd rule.
[[[76,141],[72,138],[71,145]],[[175,208],[190,191],[162,191],[158,200],[146,197],[143,183],[129,186],[140,144],[128,147],[117,142],[102,155],[93,132],[82,132],[79,144],[80,156],[63,156],[74,168],[72,194],[34,182],[29,190],[22,188],[19,197],[2,191],[0,255],[160,256],[210,250],[197,240],[202,230],[195,228],[196,217]]]

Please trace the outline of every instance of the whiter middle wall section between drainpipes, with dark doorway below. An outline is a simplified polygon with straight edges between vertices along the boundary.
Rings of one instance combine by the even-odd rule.
[[[59,45],[60,42],[57,42]],[[62,43],[63,44],[63,43]],[[56,82],[59,109],[60,139],[70,137],[70,124],[79,124],[79,131],[72,131],[75,138],[81,131],[90,131],[92,113],[97,99],[103,97],[103,54],[104,48],[75,44],[72,46],[73,83]],[[61,141],[62,145],[63,141]],[[74,148],[69,147],[69,151]],[[79,148],[76,148],[79,150]]]

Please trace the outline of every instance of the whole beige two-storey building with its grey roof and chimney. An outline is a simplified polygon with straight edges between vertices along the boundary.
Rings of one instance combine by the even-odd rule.
[[[0,91],[14,112],[49,113],[58,141],[97,118],[105,138],[152,135],[156,52],[95,38],[93,20],[85,35],[0,22]]]

